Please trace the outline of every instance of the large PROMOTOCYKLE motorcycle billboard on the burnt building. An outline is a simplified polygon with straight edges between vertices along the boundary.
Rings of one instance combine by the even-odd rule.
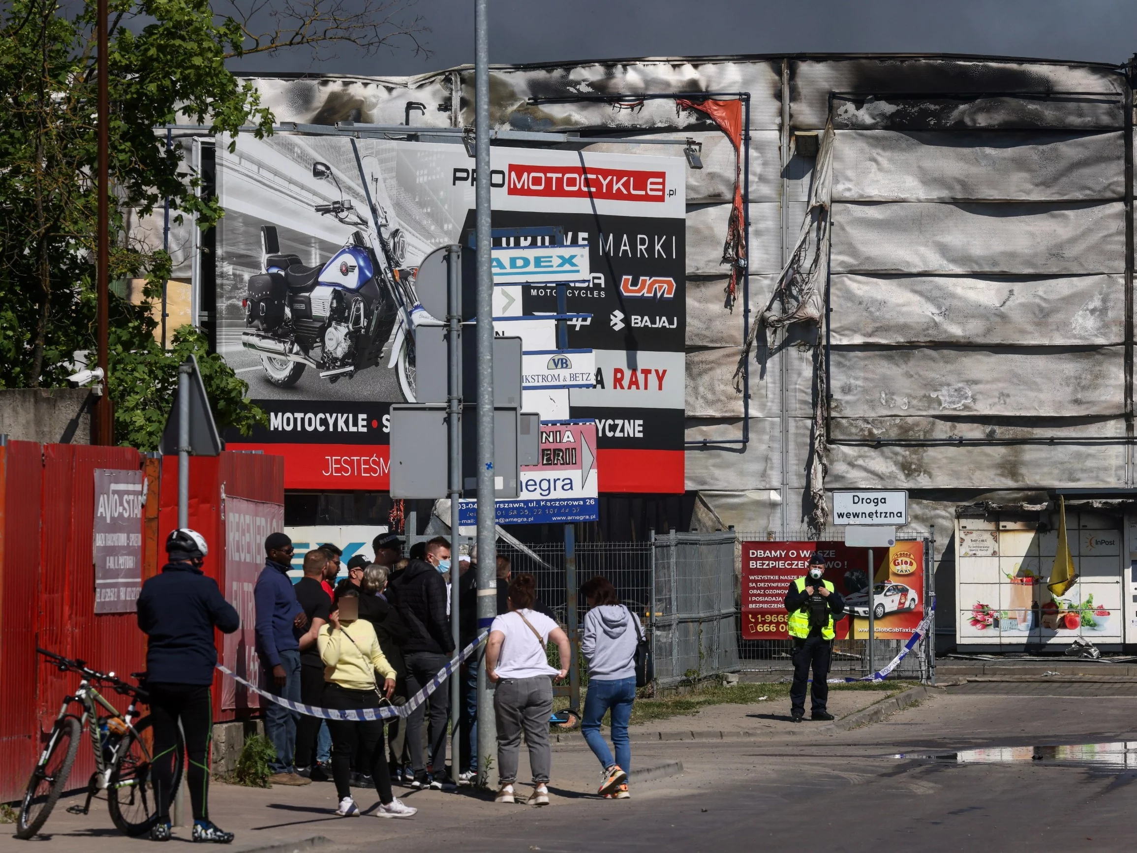
[[[222,143],[224,142],[224,144]],[[495,148],[495,330],[522,338],[522,408],[594,419],[600,491],[683,490],[686,162]],[[229,447],[285,457],[291,489],[388,488],[388,411],[414,401],[415,274],[472,251],[460,144],[241,135],[217,147],[217,349],[267,428]],[[583,266],[511,281],[522,252]],[[581,381],[588,373],[586,381]],[[572,382],[557,376],[571,376]]]

